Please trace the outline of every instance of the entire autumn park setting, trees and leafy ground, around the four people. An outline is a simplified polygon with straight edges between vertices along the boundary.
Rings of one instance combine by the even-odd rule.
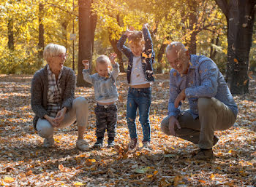
[[[0,186],[256,186],[255,4],[253,0],[2,0]],[[150,111],[153,150],[127,152],[125,73],[117,79],[115,148],[78,151],[75,124],[56,132],[52,149],[42,148],[42,138],[32,125],[30,87],[32,74],[45,65],[46,44],[67,47],[65,65],[75,69],[80,86],[89,86],[79,77],[81,59],[90,59],[94,73],[98,55],[116,52],[124,72],[127,59],[116,42],[127,26],[141,30],[143,23],[150,25],[157,55]],[[71,40],[73,33],[76,37]],[[192,53],[211,57],[238,104],[234,127],[216,132],[219,142],[211,162],[193,159],[196,145],[160,130],[169,97],[165,47],[170,41],[182,41]],[[92,146],[96,141],[93,88],[77,87],[78,96],[89,100],[85,138]],[[141,140],[139,123],[138,132]]]

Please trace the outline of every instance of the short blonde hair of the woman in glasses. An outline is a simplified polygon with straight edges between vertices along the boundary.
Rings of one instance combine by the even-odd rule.
[[[43,57],[48,62],[50,57],[66,53],[66,47],[58,44],[48,44],[44,49]]]

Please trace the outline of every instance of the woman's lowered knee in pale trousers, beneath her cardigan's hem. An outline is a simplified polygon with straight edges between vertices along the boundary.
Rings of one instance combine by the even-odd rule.
[[[37,122],[37,132],[42,138],[50,138],[53,135],[53,127],[46,119],[40,120]]]

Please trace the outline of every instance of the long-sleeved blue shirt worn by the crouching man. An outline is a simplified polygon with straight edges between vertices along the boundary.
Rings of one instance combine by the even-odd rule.
[[[168,103],[168,116],[178,116],[181,103],[175,108],[174,101],[178,94],[185,89],[189,101],[189,113],[193,118],[198,116],[198,98],[216,98],[228,106],[235,116],[238,107],[233,99],[227,83],[220,73],[216,63],[208,57],[190,55],[189,70],[181,75],[175,69],[170,71],[170,99]]]

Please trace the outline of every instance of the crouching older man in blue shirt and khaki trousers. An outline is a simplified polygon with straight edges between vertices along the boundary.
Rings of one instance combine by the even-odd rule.
[[[167,46],[170,66],[168,116],[162,120],[162,132],[198,144],[195,159],[213,159],[216,130],[227,130],[236,121],[238,107],[217,65],[208,57],[189,55],[181,42]],[[189,110],[180,111],[181,100],[189,101]]]

